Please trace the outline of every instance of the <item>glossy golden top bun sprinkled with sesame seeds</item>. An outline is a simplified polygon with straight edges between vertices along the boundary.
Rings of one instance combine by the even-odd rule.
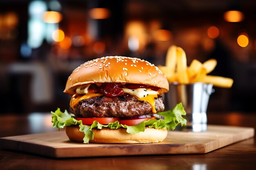
[[[156,86],[163,93],[168,81],[157,66],[132,57],[108,56],[90,60],[74,69],[68,77],[64,93],[73,95],[76,88],[94,83],[132,83]]]

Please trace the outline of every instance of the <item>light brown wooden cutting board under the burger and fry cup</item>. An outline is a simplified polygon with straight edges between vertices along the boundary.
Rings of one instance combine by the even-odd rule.
[[[169,131],[154,144],[83,144],[70,141],[65,131],[0,138],[3,149],[49,157],[99,157],[207,153],[254,136],[254,128],[209,125],[207,132]]]

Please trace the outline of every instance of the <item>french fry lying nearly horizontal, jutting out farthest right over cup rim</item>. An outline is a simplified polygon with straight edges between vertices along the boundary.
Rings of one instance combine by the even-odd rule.
[[[222,87],[222,88],[231,88],[234,80],[227,77],[207,75],[202,79],[204,83],[212,83],[213,86]]]

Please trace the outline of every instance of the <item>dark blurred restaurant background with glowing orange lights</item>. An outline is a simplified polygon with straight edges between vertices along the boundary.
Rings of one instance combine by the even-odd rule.
[[[0,113],[69,108],[67,77],[102,56],[165,63],[167,49],[218,61],[208,111],[255,111],[256,1],[0,0]]]

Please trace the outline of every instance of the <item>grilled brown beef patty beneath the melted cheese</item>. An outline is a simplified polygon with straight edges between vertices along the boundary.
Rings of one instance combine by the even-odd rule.
[[[81,100],[71,112],[78,117],[131,117],[152,113],[148,102],[137,100],[134,96],[124,93],[119,97],[91,97]],[[163,97],[155,98],[155,110],[164,110]]]

